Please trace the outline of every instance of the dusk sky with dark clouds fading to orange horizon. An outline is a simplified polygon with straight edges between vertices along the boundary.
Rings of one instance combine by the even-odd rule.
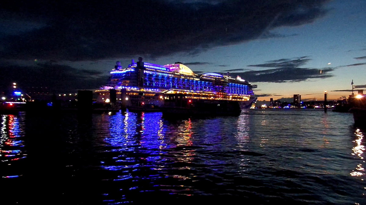
[[[365,0],[6,1],[0,90],[98,89],[116,61],[183,62],[257,84],[258,100],[366,89]]]

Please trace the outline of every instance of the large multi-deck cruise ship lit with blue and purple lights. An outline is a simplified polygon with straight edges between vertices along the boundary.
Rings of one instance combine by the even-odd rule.
[[[181,62],[157,65],[134,62],[122,68],[117,61],[110,71],[107,84],[95,92],[97,101],[123,102],[127,108],[156,108],[164,105],[164,95],[184,94],[187,98],[236,101],[241,109],[254,108],[257,98],[252,85],[241,77],[229,73],[195,74]],[[111,92],[113,91],[113,92]],[[111,94],[113,93],[113,94]],[[110,99],[112,97],[112,99]]]

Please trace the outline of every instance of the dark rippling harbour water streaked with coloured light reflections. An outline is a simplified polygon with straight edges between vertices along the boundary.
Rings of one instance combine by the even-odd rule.
[[[352,115],[1,115],[1,204],[366,204]]]

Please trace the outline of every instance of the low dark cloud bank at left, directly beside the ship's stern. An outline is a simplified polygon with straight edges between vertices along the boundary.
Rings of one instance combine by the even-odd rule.
[[[17,82],[19,89],[48,87],[51,92],[96,89],[107,80],[100,71],[76,69],[64,65],[36,64],[34,66],[6,65],[1,67],[0,88]],[[25,90],[26,91],[26,90]]]

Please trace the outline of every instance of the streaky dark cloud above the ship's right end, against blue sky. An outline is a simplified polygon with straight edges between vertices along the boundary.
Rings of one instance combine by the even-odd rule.
[[[250,70],[242,73],[231,73],[232,76],[243,76],[251,82],[296,82],[313,78],[329,78],[335,68],[326,67],[323,69],[300,67],[311,59],[299,57],[297,59],[278,59],[266,61],[266,63],[249,65],[251,67],[274,67],[266,70]]]

